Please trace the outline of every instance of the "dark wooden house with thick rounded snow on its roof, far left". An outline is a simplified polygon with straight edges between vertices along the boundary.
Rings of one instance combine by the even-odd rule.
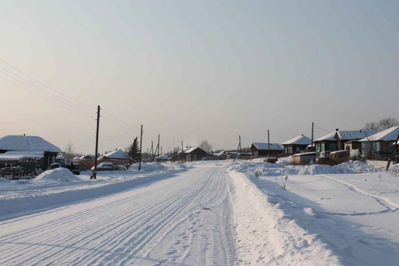
[[[61,149],[39,136],[6,135],[0,138],[0,167],[11,163],[26,169],[47,169]]]

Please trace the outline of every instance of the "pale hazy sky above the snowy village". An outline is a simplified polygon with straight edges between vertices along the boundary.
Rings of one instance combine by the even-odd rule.
[[[99,152],[124,149],[141,124],[143,150],[160,133],[165,151],[399,119],[398,13],[388,0],[2,0],[0,135],[94,153],[97,105],[100,141],[112,138]],[[5,81],[31,89],[7,64],[84,105]]]

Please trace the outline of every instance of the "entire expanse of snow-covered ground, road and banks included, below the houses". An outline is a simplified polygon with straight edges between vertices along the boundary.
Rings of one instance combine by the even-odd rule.
[[[398,265],[398,174],[288,161],[2,179],[0,265]]]

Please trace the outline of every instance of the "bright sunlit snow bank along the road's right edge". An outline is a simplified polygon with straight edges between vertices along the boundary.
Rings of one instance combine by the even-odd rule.
[[[230,172],[239,264],[339,265],[339,258],[317,234],[302,229],[245,175]],[[311,210],[308,210],[311,213]]]

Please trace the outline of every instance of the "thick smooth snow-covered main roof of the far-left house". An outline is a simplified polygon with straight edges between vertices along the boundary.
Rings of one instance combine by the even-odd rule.
[[[0,149],[61,152],[61,149],[39,136],[6,135],[0,138]]]

